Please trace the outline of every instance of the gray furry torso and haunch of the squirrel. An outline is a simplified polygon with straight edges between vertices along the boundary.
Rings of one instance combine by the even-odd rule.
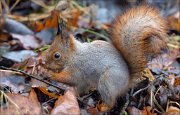
[[[121,89],[128,89],[128,67],[111,43],[98,42],[76,41],[76,54],[69,62],[69,66],[74,66],[69,68],[75,68],[76,71],[71,82],[75,83],[80,94],[90,88],[97,88],[102,98],[116,98],[124,92]]]

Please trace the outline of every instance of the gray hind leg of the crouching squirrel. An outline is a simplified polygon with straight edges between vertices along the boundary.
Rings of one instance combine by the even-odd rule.
[[[113,107],[116,99],[122,96],[128,88],[128,76],[122,74],[117,68],[107,70],[99,79],[98,91],[102,100]]]

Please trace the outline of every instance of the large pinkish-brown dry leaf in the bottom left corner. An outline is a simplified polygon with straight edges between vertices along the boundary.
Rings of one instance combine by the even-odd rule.
[[[28,115],[40,115],[41,106],[37,100],[36,94],[32,91],[30,97],[25,97],[18,94],[7,93],[5,94],[6,100],[8,100],[7,106],[2,106],[0,113],[12,114],[28,114]]]

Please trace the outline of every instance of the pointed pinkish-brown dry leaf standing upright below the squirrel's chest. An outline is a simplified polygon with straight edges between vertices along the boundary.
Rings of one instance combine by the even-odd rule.
[[[79,115],[80,109],[73,88],[68,90],[64,96],[59,97],[55,103],[55,107],[51,111],[51,115]]]

